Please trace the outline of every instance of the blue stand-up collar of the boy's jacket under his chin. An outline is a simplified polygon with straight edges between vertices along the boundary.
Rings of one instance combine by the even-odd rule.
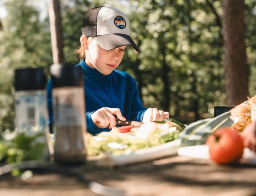
[[[104,74],[101,74],[97,69],[94,69],[94,68],[91,68],[89,67],[85,62],[84,62],[84,59],[82,59],[79,63],[82,67],[83,67],[83,70],[84,70],[84,76],[87,77],[87,78],[91,78],[91,79],[97,79],[97,80],[100,80],[101,78],[109,78],[111,76],[111,74],[109,75],[104,75]]]

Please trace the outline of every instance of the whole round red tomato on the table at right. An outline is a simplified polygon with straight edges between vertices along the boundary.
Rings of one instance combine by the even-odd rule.
[[[230,127],[217,129],[206,140],[206,144],[211,159],[219,164],[237,162],[244,152],[242,137]]]

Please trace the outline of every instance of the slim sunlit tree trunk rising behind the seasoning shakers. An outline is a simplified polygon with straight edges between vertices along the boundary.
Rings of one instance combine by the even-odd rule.
[[[64,63],[61,13],[59,0],[51,0],[49,5],[50,32],[52,42],[53,63]]]

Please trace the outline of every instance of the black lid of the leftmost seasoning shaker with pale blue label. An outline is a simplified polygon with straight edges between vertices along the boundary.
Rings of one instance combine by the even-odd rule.
[[[14,87],[19,90],[42,90],[47,83],[43,68],[23,68],[14,71]]]

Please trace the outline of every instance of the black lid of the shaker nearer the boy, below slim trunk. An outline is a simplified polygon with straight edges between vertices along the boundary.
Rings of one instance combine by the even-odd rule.
[[[72,64],[59,63],[50,67],[53,88],[63,86],[83,86],[83,70]]]

